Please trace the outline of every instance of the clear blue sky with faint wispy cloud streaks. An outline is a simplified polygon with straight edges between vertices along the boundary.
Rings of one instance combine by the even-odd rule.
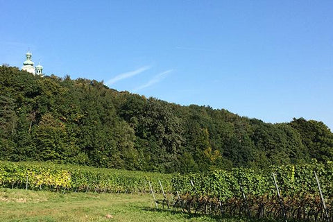
[[[0,63],[333,129],[333,1],[0,0]]]

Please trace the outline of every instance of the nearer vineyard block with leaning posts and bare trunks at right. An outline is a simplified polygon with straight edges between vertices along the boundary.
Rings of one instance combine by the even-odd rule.
[[[332,162],[273,167],[271,172],[233,169],[188,174],[174,177],[172,185],[178,196],[174,207],[185,212],[275,221],[332,221],[333,217]]]

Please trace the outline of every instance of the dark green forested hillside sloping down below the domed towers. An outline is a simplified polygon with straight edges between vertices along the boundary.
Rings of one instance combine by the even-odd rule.
[[[0,67],[0,159],[161,172],[333,160],[324,123],[264,123]]]

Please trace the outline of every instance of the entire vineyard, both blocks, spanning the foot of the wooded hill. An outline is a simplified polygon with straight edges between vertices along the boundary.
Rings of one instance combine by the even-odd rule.
[[[164,196],[155,200],[156,207],[162,203],[188,213],[274,221],[332,221],[332,181],[332,162],[272,167],[270,171],[232,169],[185,175],[51,162],[0,162],[0,187],[128,194],[153,193],[155,189]]]

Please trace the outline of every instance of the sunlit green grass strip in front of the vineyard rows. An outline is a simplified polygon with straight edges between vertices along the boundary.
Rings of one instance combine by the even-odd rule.
[[[155,210],[150,194],[60,194],[0,189],[0,219],[6,221],[247,221]],[[107,218],[107,216],[112,218]]]

